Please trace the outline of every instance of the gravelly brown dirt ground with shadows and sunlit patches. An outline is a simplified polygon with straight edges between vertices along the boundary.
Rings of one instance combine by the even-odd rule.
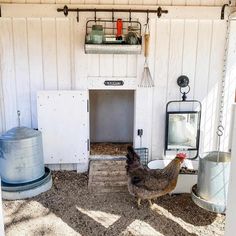
[[[196,206],[190,194],[166,195],[151,210],[129,194],[94,195],[87,175],[54,172],[52,189],[37,197],[4,201],[6,236],[223,235],[224,215]]]

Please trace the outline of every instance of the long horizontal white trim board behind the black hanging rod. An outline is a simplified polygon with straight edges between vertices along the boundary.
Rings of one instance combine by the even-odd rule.
[[[69,8],[91,8],[91,5],[67,5]],[[64,18],[63,12],[57,12],[57,8],[63,8],[64,4],[1,4],[2,17],[59,17]],[[114,9],[149,9],[156,10],[158,6],[148,5],[93,5],[92,8],[114,8]],[[212,6],[162,6],[163,10],[168,10],[168,14],[162,14],[160,19],[212,19],[220,20],[221,7]],[[230,11],[233,12],[235,8],[231,7]],[[227,16],[229,8],[225,9],[225,15]],[[93,12],[80,12],[80,18],[94,17]],[[104,15],[103,12],[98,12],[97,17]],[[75,18],[76,13],[69,12],[69,18]],[[127,13],[128,17],[128,13]],[[146,14],[132,13],[132,18],[146,18]],[[150,18],[157,18],[155,13],[149,14]]]

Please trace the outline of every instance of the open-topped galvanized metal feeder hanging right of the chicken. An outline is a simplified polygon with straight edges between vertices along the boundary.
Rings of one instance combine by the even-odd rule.
[[[200,207],[224,213],[227,205],[231,155],[208,152],[199,158],[198,181],[193,186],[192,199]]]

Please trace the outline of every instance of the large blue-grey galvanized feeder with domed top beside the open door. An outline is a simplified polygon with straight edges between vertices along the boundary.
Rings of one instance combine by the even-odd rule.
[[[49,190],[51,171],[44,167],[42,134],[19,126],[0,137],[2,197],[23,199]]]

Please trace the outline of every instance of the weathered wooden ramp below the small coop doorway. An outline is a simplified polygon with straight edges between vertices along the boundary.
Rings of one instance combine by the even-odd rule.
[[[126,193],[126,158],[92,156],[89,164],[88,188],[91,193]]]

